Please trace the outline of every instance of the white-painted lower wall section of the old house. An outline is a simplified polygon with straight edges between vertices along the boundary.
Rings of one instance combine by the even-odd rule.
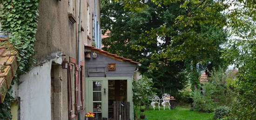
[[[51,120],[52,61],[61,63],[62,58],[49,60],[20,76],[20,120]]]

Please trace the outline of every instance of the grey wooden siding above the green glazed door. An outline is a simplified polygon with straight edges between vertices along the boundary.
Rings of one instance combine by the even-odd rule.
[[[131,77],[134,75],[137,64],[131,62],[121,62],[113,58],[98,54],[97,58],[92,57],[86,58],[85,68],[86,68],[86,77],[88,77],[88,68],[90,71],[104,71],[106,69],[107,77]],[[115,63],[116,70],[108,70],[108,63]],[[105,74],[102,73],[90,73],[90,77],[104,77]]]

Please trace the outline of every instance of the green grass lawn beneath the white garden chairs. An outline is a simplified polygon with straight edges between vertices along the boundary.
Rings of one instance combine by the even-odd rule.
[[[177,106],[174,110],[150,109],[145,111],[145,115],[148,120],[212,120],[213,113],[199,113],[189,111],[189,107]]]

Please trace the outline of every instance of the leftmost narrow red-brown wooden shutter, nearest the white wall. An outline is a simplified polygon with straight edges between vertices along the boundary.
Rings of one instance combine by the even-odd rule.
[[[67,66],[67,101],[68,101],[68,120],[72,119],[72,90],[71,90],[71,63]]]

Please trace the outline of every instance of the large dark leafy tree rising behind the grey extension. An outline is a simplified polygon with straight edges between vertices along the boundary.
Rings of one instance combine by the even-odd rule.
[[[140,60],[143,74],[153,78],[159,92],[176,93],[187,84],[185,75],[195,87],[199,71],[223,65],[222,48],[226,32],[222,29],[225,18],[217,3],[208,2],[208,9],[200,13],[198,5],[180,7],[182,2],[155,4],[154,0],[143,2],[143,9],[127,10],[125,0],[101,1],[101,26],[110,30],[110,37],[103,39],[103,49]],[[219,7],[222,7],[219,5]],[[188,19],[184,15],[200,13],[192,23],[177,22]],[[209,11],[215,11],[209,14]],[[182,17],[183,16],[183,17]],[[188,71],[188,72],[185,72]]]

